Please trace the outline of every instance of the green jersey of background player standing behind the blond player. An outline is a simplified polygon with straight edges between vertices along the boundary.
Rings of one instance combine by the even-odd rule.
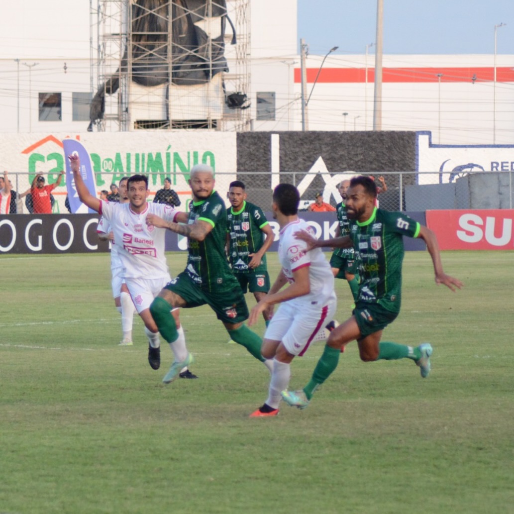
[[[234,212],[233,207],[227,209],[227,232],[230,234],[229,260],[234,273],[260,272],[266,270],[266,254],[261,265],[250,269],[248,263],[252,260],[250,253],[259,251],[264,243],[262,228],[268,225],[268,220],[260,207],[243,202],[243,207]]]

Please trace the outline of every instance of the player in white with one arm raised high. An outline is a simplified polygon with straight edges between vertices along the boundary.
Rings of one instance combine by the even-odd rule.
[[[160,367],[159,331],[150,313],[150,304],[160,290],[171,281],[166,255],[164,255],[164,235],[166,229],[146,224],[146,215],[153,213],[163,219],[173,221],[176,211],[163,204],[148,203],[150,194],[148,178],[133,175],[127,180],[128,203],[101,201],[87,189],[80,174],[80,159],[77,155],[68,156],[75,186],[80,201],[102,214],[111,224],[114,240],[120,245],[120,258],[123,264],[123,278],[130,295],[144,322],[144,331],[149,341],[148,362],[154,370]],[[173,311],[179,337],[170,344],[174,354],[187,352],[186,338],[180,326],[178,309]]]

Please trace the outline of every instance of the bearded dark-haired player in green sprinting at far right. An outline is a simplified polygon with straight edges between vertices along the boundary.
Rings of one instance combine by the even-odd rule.
[[[436,284],[444,284],[452,291],[463,284],[443,271],[435,234],[401,212],[376,208],[376,197],[377,187],[370,177],[354,177],[346,199],[348,217],[356,222],[350,235],[318,241],[304,232],[295,234],[310,248],[353,245],[359,254],[361,282],[352,317],[331,332],[307,386],[299,391],[282,392],[282,398],[290,406],[307,407],[318,386],[336,369],[341,347],[354,339],[360,358],[365,362],[409,358],[419,366],[421,377],[430,373],[432,346],[429,343],[412,347],[380,341],[383,329],[394,321],[400,310],[403,236],[420,237],[425,241]]]

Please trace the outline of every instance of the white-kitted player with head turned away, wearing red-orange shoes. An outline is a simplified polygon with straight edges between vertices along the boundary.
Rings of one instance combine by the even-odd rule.
[[[302,356],[320,329],[332,320],[337,306],[334,275],[322,251],[307,251],[307,245],[293,235],[308,230],[298,217],[300,194],[291,184],[279,184],[273,191],[273,218],[280,225],[279,260],[282,269],[265,296],[251,310],[248,324],[254,324],[270,305],[280,303],[264,334],[261,353],[273,359],[268,398],[250,417],[276,416],[281,392],[287,389],[290,363]],[[282,287],[289,283],[285,289]]]

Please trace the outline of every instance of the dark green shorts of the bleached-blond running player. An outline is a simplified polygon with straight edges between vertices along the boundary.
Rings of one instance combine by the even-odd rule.
[[[165,289],[173,291],[186,301],[186,308],[209,305],[218,320],[224,323],[240,323],[248,319],[248,307],[243,291],[234,277],[224,282],[223,287],[211,291],[195,284],[186,271],[182,271]]]

